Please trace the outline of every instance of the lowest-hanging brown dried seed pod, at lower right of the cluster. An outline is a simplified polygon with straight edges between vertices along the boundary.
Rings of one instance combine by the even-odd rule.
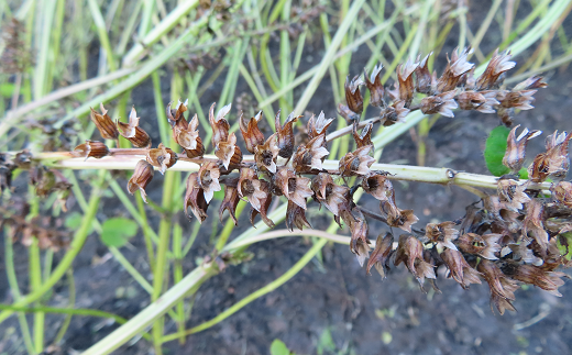
[[[482,259],[476,269],[491,288],[491,310],[495,304],[501,314],[504,314],[505,310],[516,311],[510,301],[515,300],[514,292],[518,289],[518,284],[505,276],[493,262]]]

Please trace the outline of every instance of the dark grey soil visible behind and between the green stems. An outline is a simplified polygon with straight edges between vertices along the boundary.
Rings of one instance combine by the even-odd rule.
[[[477,21],[475,15],[473,21]],[[498,41],[491,41],[498,43]],[[452,44],[451,44],[452,46]],[[491,48],[486,48],[491,49]],[[308,57],[315,51],[314,59],[304,63],[300,73],[315,65],[321,57],[322,48],[308,48]],[[526,56],[517,59],[524,60]],[[356,54],[352,59],[352,73],[361,73],[366,56]],[[443,55],[439,60],[444,60]],[[518,113],[516,122],[529,129],[540,129],[547,134],[557,127],[570,130],[568,122],[572,112],[572,74],[569,70],[549,78],[549,88],[536,95],[536,109]],[[219,80],[220,81],[220,80]],[[201,101],[207,107],[218,99],[222,81],[217,81]],[[331,90],[327,77],[323,95],[318,95],[309,111],[324,110],[329,117],[336,114],[336,103],[328,91]],[[244,86],[244,84],[240,84]],[[240,90],[237,92],[242,92]],[[245,87],[244,87],[245,88]],[[302,86],[304,88],[304,86]],[[298,88],[301,90],[302,88]],[[169,101],[168,87],[164,86],[164,101]],[[299,92],[298,92],[299,93]],[[151,82],[145,82],[133,91],[134,104],[142,117],[154,117]],[[455,170],[487,174],[482,156],[487,133],[498,124],[492,114],[458,112],[454,119],[441,118],[431,130],[427,144],[426,165],[450,167]],[[145,129],[145,126],[143,126]],[[157,138],[157,137],[154,137]],[[542,138],[529,144],[528,157],[540,153]],[[383,153],[382,163],[407,160],[416,164],[416,145],[409,135],[392,143]],[[121,184],[124,180],[121,179]],[[161,198],[161,179],[151,186],[150,198]],[[418,225],[432,220],[448,221],[464,215],[464,208],[476,201],[471,193],[448,186],[422,184],[396,184],[398,206],[414,209],[420,219]],[[125,214],[118,209],[117,201],[107,199],[98,218]],[[363,206],[377,209],[377,203],[369,198]],[[308,212],[309,220],[317,229],[327,224],[324,217],[315,204]],[[185,271],[195,267],[196,258],[212,249],[209,236],[212,221],[218,220],[213,206],[210,218],[199,233],[196,247],[185,262]],[[153,217],[153,220],[156,215]],[[218,223],[218,222],[217,222]],[[191,225],[184,223],[185,234]],[[249,226],[241,219],[240,231]],[[220,226],[219,226],[220,229]],[[370,223],[371,238],[388,231],[378,222]],[[396,235],[398,231],[394,231]],[[239,234],[239,229],[233,235]],[[348,235],[346,230],[340,234]],[[240,266],[230,266],[221,275],[207,281],[195,298],[193,314],[187,326],[196,325],[219,314],[252,291],[267,285],[283,275],[308,249],[311,242],[300,237],[286,237],[263,242],[250,248],[255,257]],[[141,235],[132,240],[132,246],[122,252],[143,276],[151,280],[146,252]],[[28,253],[21,245],[15,246],[19,275],[26,274]],[[57,256],[61,256],[59,253]],[[8,290],[3,268],[3,253],[0,253],[0,295],[3,303],[12,301]],[[365,275],[355,256],[346,246],[329,245],[322,253],[323,262],[317,259],[304,268],[299,275],[279,289],[262,297],[240,310],[222,323],[207,331],[189,336],[186,344],[167,343],[166,354],[270,354],[273,340],[279,339],[298,354],[315,354],[326,347],[324,354],[570,354],[572,352],[572,303],[565,301],[572,295],[572,286],[566,282],[560,288],[562,298],[528,288],[516,292],[514,302],[518,312],[507,312],[501,317],[491,311],[488,287],[472,286],[463,290],[452,279],[439,275],[438,286],[442,293],[419,290],[417,281],[400,266],[392,268],[387,279],[377,274]],[[148,304],[146,292],[108,254],[107,248],[91,235],[74,263],[77,289],[77,308],[100,309],[127,319],[135,315]],[[21,280],[25,278],[22,277]],[[63,285],[64,284],[64,285]],[[26,285],[20,285],[28,291]],[[426,284],[426,289],[430,286]],[[51,306],[67,306],[67,281],[54,289]],[[189,300],[190,302],[190,300]],[[32,317],[28,318],[32,324]],[[50,343],[64,317],[47,315],[46,343]],[[59,354],[74,354],[86,350],[117,329],[117,324],[106,320],[74,317],[64,339]],[[24,354],[15,317],[0,326],[0,354]],[[167,318],[166,332],[176,331],[176,324]],[[324,334],[331,334],[332,342],[324,342]],[[123,346],[117,354],[148,354],[152,346],[146,341]]]

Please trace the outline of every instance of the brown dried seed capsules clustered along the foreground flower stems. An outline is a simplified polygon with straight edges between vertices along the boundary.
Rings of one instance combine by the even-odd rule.
[[[306,125],[306,136],[298,138],[294,126],[301,117],[288,115],[284,123],[280,113],[275,118],[275,131],[265,136],[258,127],[262,113],[254,118],[239,118],[244,148],[253,155],[244,160],[237,135],[230,132],[226,117],[231,106],[223,107],[217,114],[215,104],[209,110],[212,130],[211,144],[217,159],[206,158],[205,144],[199,136],[199,120],[195,114],[185,118],[187,104],[167,107],[168,122],[173,138],[184,151],[176,154],[163,144],[151,147],[151,138],[139,127],[139,118],[133,109],[129,123],[112,122],[101,107],[101,113],[92,110],[91,119],[105,138],[117,140],[124,136],[136,147],[144,147],[146,159],[138,163],[129,180],[128,190],[141,191],[145,199],[145,188],[153,173],[166,169],[177,159],[195,162],[200,165],[197,173],[189,175],[184,199],[187,217],[195,215],[199,222],[207,219],[207,210],[216,191],[224,186],[224,198],[219,215],[226,210],[237,224],[235,209],[240,199],[250,203],[250,220],[260,214],[268,226],[274,222],[268,218],[268,209],[274,197],[287,199],[286,226],[310,228],[306,218],[308,199],[328,209],[337,223],[343,222],[351,231],[351,251],[366,269],[375,267],[385,278],[389,260],[395,265],[404,263],[421,286],[429,279],[432,287],[437,270],[444,266],[448,276],[463,288],[481,284],[484,279],[491,287],[491,303],[501,313],[514,310],[514,291],[520,284],[530,284],[560,296],[558,287],[563,285],[564,274],[556,271],[559,266],[568,266],[566,258],[559,245],[568,247],[566,233],[572,231],[572,184],[559,181],[552,186],[552,196],[544,197],[536,182],[547,178],[562,179],[568,173],[568,142],[571,134],[556,132],[547,141],[547,152],[539,154],[529,167],[530,180],[522,184],[514,174],[524,164],[528,140],[540,134],[525,130],[518,137],[514,127],[507,141],[503,163],[513,171],[498,179],[496,195],[483,192],[479,203],[466,209],[464,218],[457,221],[429,223],[422,230],[413,228],[418,221],[413,210],[396,206],[392,176],[371,169],[375,162],[371,134],[373,125],[392,125],[404,121],[407,114],[420,110],[425,114],[452,117],[454,109],[476,110],[483,113],[497,113],[502,122],[510,126],[515,109],[531,109],[532,95],[537,88],[546,87],[540,77],[532,77],[512,90],[502,88],[505,71],[515,66],[510,54],[496,52],[484,73],[474,77],[475,66],[468,62],[470,49],[455,51],[441,75],[437,77],[428,69],[429,56],[408,62],[397,67],[397,81],[393,89],[384,88],[381,82],[381,66],[371,76],[365,73],[346,80],[346,104],[339,107],[340,114],[352,125],[355,149],[338,162],[337,170],[328,170],[323,162],[329,155],[327,130],[333,119],[323,113],[312,115]],[[364,109],[360,88],[370,91],[370,104],[378,108],[380,114],[360,123]],[[425,95],[419,99],[419,95]],[[386,101],[389,99],[388,101]],[[360,129],[362,130],[360,132]],[[340,135],[336,135],[337,137]],[[75,151],[77,156],[102,157],[109,149],[98,142],[88,141]],[[349,186],[348,181],[354,181]],[[532,184],[530,184],[532,182]],[[362,188],[380,201],[380,211],[366,211],[353,201],[353,195]],[[397,228],[402,234],[394,245],[391,233],[380,235],[371,252],[366,218],[383,221]],[[370,255],[371,253],[371,255]]]

